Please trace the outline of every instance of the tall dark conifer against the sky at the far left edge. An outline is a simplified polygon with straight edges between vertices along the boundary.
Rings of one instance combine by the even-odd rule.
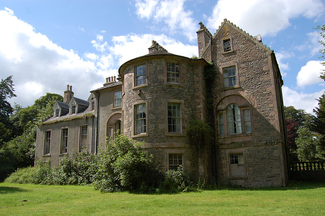
[[[16,97],[14,94],[14,84],[12,76],[7,77],[5,80],[1,79],[0,83],[0,121],[4,123],[12,113],[12,107],[7,99]]]

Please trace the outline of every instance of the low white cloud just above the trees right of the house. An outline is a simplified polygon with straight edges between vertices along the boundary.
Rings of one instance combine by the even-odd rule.
[[[305,94],[303,92],[297,92],[287,86],[282,87],[283,103],[285,106],[295,106],[296,109],[303,109],[307,113],[313,114],[314,107],[318,107],[318,99],[325,89],[319,92]]]

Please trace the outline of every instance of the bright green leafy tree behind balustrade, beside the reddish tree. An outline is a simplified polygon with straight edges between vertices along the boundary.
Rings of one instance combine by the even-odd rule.
[[[306,127],[299,128],[296,138],[298,159],[300,161],[313,161],[316,158],[317,137]]]

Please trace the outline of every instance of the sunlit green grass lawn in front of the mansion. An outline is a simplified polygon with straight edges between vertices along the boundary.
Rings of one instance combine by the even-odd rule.
[[[100,193],[90,186],[0,184],[0,215],[325,215],[325,183],[180,194]]]

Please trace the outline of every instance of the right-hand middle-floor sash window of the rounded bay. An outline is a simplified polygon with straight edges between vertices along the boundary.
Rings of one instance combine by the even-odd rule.
[[[168,103],[168,132],[181,133],[181,104]]]

